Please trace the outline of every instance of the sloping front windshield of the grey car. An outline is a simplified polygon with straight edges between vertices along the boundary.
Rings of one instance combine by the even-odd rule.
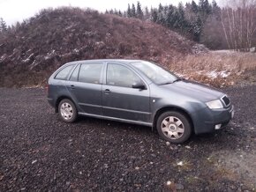
[[[154,63],[141,61],[131,64],[157,85],[171,84],[178,79],[177,76],[167,70],[163,70]]]

